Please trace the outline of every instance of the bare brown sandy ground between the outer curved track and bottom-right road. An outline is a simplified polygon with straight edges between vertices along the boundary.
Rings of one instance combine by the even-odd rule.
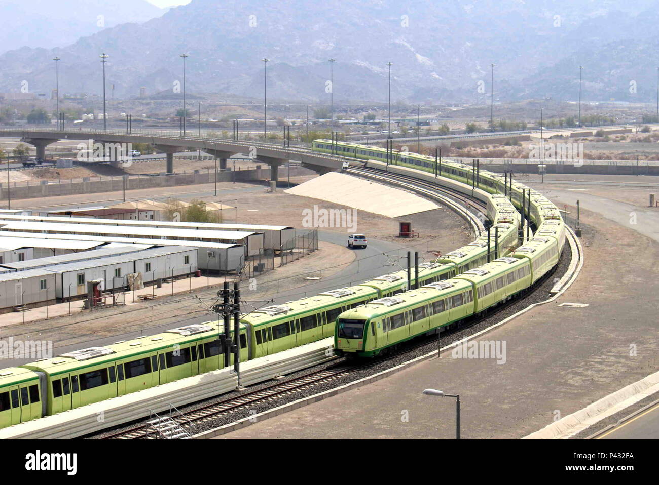
[[[484,337],[507,342],[503,365],[448,351],[226,437],[452,439],[455,401],[421,394],[436,387],[459,392],[463,438],[521,438],[655,372],[659,243],[591,211],[582,222],[586,259],[577,282]],[[565,302],[588,307],[558,306]]]

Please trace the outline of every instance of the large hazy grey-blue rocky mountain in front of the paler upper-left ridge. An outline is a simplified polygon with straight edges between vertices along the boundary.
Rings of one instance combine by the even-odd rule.
[[[16,1],[16,0],[11,0]],[[32,0],[35,1],[35,0]],[[652,99],[659,66],[654,0],[192,0],[142,24],[126,23],[57,49],[24,47],[0,56],[0,91],[54,84],[98,94],[100,53],[115,95],[176,89],[187,53],[186,89],[328,102],[334,99],[485,102],[490,64],[498,99]],[[637,82],[636,92],[629,81]],[[576,83],[576,84],[575,84]],[[575,91],[575,86],[577,91]]]

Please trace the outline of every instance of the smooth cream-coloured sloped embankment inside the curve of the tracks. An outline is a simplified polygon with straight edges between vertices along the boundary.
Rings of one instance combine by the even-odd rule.
[[[285,192],[347,205],[360,211],[386,217],[400,217],[432,211],[439,207],[413,193],[339,172],[329,172],[312,178],[304,184],[285,190]]]

